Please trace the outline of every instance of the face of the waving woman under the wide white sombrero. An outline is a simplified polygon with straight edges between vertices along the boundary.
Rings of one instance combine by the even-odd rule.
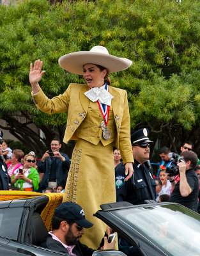
[[[107,70],[100,70],[95,64],[85,64],[83,67],[83,77],[89,87],[101,87],[104,85],[104,77]]]

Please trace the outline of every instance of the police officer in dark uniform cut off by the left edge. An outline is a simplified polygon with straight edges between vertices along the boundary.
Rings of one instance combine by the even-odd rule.
[[[8,190],[8,173],[4,157],[1,155],[3,132],[0,131],[0,190]]]

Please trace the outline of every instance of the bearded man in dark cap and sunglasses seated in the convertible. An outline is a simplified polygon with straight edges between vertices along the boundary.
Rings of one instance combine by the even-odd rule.
[[[85,218],[82,207],[72,202],[64,202],[60,204],[52,218],[52,231],[40,246],[64,252],[70,255],[89,256],[95,250],[88,248],[79,240],[84,235],[84,228],[90,228],[93,223]],[[104,237],[104,246],[101,249],[114,249],[115,241],[107,242]]]

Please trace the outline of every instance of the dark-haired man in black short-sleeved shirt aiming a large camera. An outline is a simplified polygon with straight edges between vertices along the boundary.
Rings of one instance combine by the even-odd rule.
[[[174,173],[168,174],[173,186],[173,193],[169,202],[176,202],[197,212],[199,196],[199,178],[194,168],[197,165],[196,153],[190,151],[181,152]],[[175,166],[176,167],[176,166]],[[174,176],[179,172],[180,180],[176,182]],[[173,171],[173,169],[171,170]]]

